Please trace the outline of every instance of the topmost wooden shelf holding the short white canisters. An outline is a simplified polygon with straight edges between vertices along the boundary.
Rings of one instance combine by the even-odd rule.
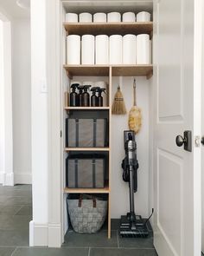
[[[151,34],[153,23],[63,23],[68,35],[126,35]]]

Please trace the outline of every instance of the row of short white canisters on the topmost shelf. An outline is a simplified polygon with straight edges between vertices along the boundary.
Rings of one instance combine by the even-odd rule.
[[[108,14],[104,12],[97,12],[95,14],[82,12],[78,16],[76,13],[68,12],[66,14],[66,22],[67,23],[120,23],[121,22],[121,14],[119,12],[110,12]],[[124,23],[134,23],[137,22],[150,22],[150,12],[141,11],[137,13],[137,16],[134,12],[124,12],[122,15],[122,21]]]

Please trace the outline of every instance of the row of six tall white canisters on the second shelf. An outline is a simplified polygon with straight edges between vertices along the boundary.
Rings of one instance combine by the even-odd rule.
[[[67,64],[150,64],[150,56],[148,34],[67,36]]]

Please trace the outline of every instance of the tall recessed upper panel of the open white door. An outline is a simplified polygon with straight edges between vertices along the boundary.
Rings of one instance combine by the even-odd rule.
[[[167,11],[168,10],[168,11]],[[158,24],[158,113],[161,121],[182,119],[182,19],[181,1],[161,1]],[[173,14],[173,17],[172,17]],[[170,21],[170,22],[169,22]],[[169,95],[166,97],[166,95]]]

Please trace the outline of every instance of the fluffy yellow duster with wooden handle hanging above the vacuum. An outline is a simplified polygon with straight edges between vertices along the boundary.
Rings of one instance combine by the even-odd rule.
[[[141,115],[141,109],[137,107],[137,102],[136,102],[136,80],[135,79],[133,83],[133,99],[134,99],[134,102],[133,102],[133,107],[131,108],[131,111],[129,113],[128,124],[129,124],[129,128],[137,134],[142,126],[142,115]]]

